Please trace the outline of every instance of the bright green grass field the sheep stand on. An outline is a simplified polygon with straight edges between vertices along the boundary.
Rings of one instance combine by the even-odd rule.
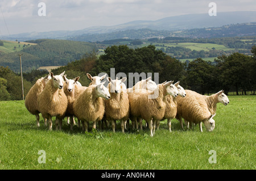
[[[148,130],[121,133],[110,130],[82,133],[77,126],[69,131],[49,132],[24,101],[0,102],[0,169],[256,169],[256,96],[229,96],[230,104],[218,104],[213,132],[181,131],[166,121],[154,137]],[[55,120],[55,119],[54,119]],[[55,121],[54,121],[55,122]],[[119,126],[119,122],[118,126]],[[53,124],[53,129],[55,128]],[[39,163],[46,153],[46,163]],[[210,150],[216,163],[210,163]],[[38,162],[39,160],[39,162]]]

